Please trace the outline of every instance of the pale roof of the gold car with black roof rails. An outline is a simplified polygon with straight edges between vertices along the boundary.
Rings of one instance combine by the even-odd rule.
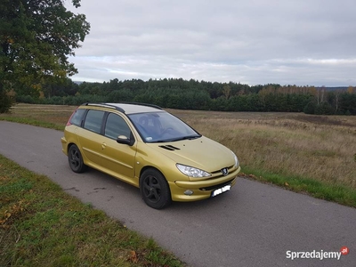
[[[96,106],[103,108],[117,109],[125,114],[134,114],[134,113],[146,113],[146,112],[157,112],[163,111],[160,107],[156,105],[150,105],[145,103],[85,103],[85,106]]]

